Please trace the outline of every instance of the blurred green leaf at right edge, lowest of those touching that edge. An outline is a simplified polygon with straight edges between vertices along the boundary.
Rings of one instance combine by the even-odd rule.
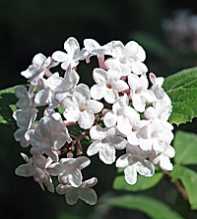
[[[187,192],[191,208],[197,209],[197,173],[187,167],[176,165],[171,176],[174,181],[181,181]]]

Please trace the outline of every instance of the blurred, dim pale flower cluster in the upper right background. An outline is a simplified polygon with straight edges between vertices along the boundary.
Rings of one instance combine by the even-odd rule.
[[[163,28],[172,46],[197,52],[197,15],[176,11],[173,18],[163,22]]]

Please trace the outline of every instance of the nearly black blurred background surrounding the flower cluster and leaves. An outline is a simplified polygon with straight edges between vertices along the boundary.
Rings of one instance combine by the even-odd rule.
[[[114,39],[124,43],[134,39],[146,49],[149,69],[162,76],[195,66],[197,52],[189,46],[172,45],[170,35],[163,28],[164,20],[180,9],[189,9],[197,14],[193,0],[0,0],[0,88],[25,83],[20,72],[30,64],[33,55],[38,52],[49,55],[61,49],[69,36],[76,37],[80,43],[84,38],[94,38],[101,44]],[[87,80],[85,67],[83,73],[82,78]],[[15,102],[13,99],[12,103]],[[0,110],[2,108],[7,117],[11,117],[10,107],[4,106],[0,99]],[[82,203],[69,207],[63,197],[42,192],[32,179],[16,177],[14,169],[22,159],[19,145],[13,139],[14,129],[13,123],[0,125],[1,219],[149,218],[137,210],[102,205],[103,199],[114,194],[112,184],[116,170],[102,165],[97,158],[89,172],[99,177],[96,190],[99,196],[104,196],[99,207]],[[179,129],[197,133],[197,122]],[[190,210],[167,177],[142,194],[169,204],[187,219],[197,218],[197,213]]]

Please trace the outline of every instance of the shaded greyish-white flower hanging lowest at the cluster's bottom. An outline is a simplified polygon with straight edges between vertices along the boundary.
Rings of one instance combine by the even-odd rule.
[[[89,205],[95,205],[97,202],[97,194],[92,189],[97,183],[97,178],[92,177],[82,182],[79,187],[73,187],[69,184],[59,184],[56,191],[60,195],[65,195],[66,202],[69,205],[74,205],[79,199]]]

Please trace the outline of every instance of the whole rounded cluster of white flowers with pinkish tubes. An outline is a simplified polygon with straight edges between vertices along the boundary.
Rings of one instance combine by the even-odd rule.
[[[65,195],[68,204],[81,199],[94,205],[97,178],[82,175],[88,157],[98,154],[103,163],[115,163],[129,184],[137,182],[138,174],[153,176],[155,166],[172,170],[171,101],[163,78],[147,75],[143,48],[134,41],[100,45],[86,39],[80,49],[70,37],[64,50],[48,58],[35,55],[21,73],[29,84],[16,89],[15,139],[31,157],[21,153],[26,163],[16,174]],[[80,83],[78,65],[94,58],[95,84],[89,87]]]

